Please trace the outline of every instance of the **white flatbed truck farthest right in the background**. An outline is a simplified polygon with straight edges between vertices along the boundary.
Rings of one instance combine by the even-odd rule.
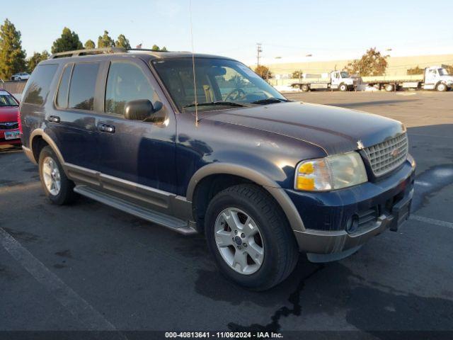
[[[369,86],[379,86],[386,91],[396,91],[401,88],[447,91],[453,88],[453,76],[441,66],[426,67],[423,74],[413,76],[372,76],[362,77],[362,83]]]

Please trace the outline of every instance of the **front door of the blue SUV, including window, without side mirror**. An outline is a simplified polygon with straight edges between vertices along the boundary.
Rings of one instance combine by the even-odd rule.
[[[99,169],[111,183],[122,181],[176,193],[176,120],[159,85],[142,60],[113,57],[105,85],[105,113],[98,116]],[[128,101],[147,99],[154,115],[127,120]]]

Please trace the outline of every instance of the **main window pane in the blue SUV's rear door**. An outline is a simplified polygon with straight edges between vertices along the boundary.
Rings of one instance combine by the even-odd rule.
[[[69,86],[69,108],[93,111],[99,63],[75,64]]]

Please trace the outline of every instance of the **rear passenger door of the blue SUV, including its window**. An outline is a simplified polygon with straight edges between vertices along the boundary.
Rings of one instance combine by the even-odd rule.
[[[46,115],[66,163],[98,170],[96,112],[101,110],[101,70],[105,62],[64,65],[55,96],[55,111]]]

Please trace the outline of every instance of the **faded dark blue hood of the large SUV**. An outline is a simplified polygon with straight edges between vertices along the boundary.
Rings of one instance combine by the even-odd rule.
[[[359,142],[370,147],[404,132],[403,124],[393,119],[310,103],[275,103],[200,116],[303,140],[321,147],[327,154],[360,149]]]

